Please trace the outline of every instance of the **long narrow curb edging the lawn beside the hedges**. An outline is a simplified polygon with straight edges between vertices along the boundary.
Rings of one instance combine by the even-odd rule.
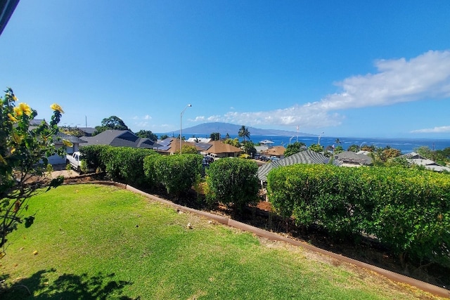
[[[364,263],[362,261],[357,261],[356,259],[350,259],[347,256],[342,256],[340,254],[335,254],[333,252],[329,252],[327,250],[318,248],[318,247],[314,247],[311,244],[307,244],[305,242],[299,242],[297,240],[293,240],[290,239],[289,237],[285,237],[283,235],[279,235],[277,233],[272,233],[270,231],[261,229],[261,228],[257,228],[255,226],[250,226],[248,224],[245,223],[241,223],[238,222],[236,220],[233,219],[229,219],[226,218],[224,216],[218,216],[216,214],[211,214],[207,211],[199,211],[197,209],[192,209],[190,207],[184,207],[181,206],[179,204],[175,204],[174,202],[170,202],[168,200],[164,200],[160,197],[157,197],[155,195],[151,195],[148,193],[145,193],[141,190],[138,190],[137,188],[132,187],[131,185],[125,185],[123,183],[115,183],[113,181],[91,181],[89,183],[96,183],[96,184],[103,184],[103,185],[114,185],[117,186],[118,188],[124,188],[126,190],[130,190],[131,192],[143,195],[145,197],[148,197],[152,200],[156,200],[158,202],[164,203],[169,205],[170,207],[174,207],[175,209],[179,209],[180,211],[188,211],[191,212],[193,214],[198,214],[199,216],[205,216],[208,219],[212,219],[214,221],[217,221],[218,223],[224,224],[226,226],[231,226],[234,228],[238,228],[240,230],[245,230],[248,231],[250,233],[254,233],[255,235],[258,235],[260,237],[265,237],[269,240],[276,240],[276,241],[280,241],[280,242],[286,242],[289,244],[292,244],[294,246],[297,247],[303,247],[305,249],[309,249],[311,251],[314,252],[318,252],[320,254],[326,255],[326,256],[330,256],[333,259],[338,259],[339,261],[344,261],[346,263],[351,263],[354,266],[357,266],[359,268],[366,268],[368,270],[371,270],[375,273],[378,273],[380,275],[383,275],[385,278],[388,278],[390,280],[393,280],[395,282],[401,282],[401,283],[405,283],[407,285],[411,285],[413,287],[417,287],[418,289],[422,289],[425,292],[430,292],[431,294],[435,294],[436,296],[441,296],[441,297],[445,297],[445,298],[450,298],[450,290],[448,289],[444,289],[442,287],[438,287],[436,285],[431,285],[428,282],[423,282],[421,280],[417,280],[414,278],[410,278],[406,275],[401,275],[399,273],[394,273],[390,270],[385,270],[383,268],[379,268],[377,266],[372,266],[368,263]]]

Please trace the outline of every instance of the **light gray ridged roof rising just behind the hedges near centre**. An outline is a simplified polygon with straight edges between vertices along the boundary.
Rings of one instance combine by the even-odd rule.
[[[267,181],[267,174],[274,168],[290,166],[291,164],[324,164],[326,159],[327,157],[321,153],[303,150],[289,157],[263,164],[258,169],[258,178],[260,181]]]

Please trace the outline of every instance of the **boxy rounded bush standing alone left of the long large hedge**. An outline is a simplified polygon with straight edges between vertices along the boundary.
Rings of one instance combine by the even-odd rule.
[[[240,158],[222,158],[207,170],[207,202],[234,204],[238,212],[255,203],[259,191],[258,166]]]

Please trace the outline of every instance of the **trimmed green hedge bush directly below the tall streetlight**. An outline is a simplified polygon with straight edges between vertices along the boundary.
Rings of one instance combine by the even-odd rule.
[[[167,193],[178,197],[200,181],[203,171],[202,155],[155,155],[144,159],[146,184],[161,184]]]

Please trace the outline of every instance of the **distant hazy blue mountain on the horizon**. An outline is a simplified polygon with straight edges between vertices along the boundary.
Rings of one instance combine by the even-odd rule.
[[[225,136],[226,133],[229,133],[230,136],[236,136],[239,132],[240,127],[242,125],[236,125],[231,123],[224,122],[210,122],[203,123],[196,126],[188,127],[183,129],[183,135],[185,134],[202,134],[210,136],[211,133],[219,132],[221,135]],[[278,130],[278,129],[259,129],[255,127],[245,126],[250,131],[250,135],[252,136],[315,136],[314,134],[304,133],[296,131],[288,131],[288,130]],[[167,133],[168,134],[168,133]]]

